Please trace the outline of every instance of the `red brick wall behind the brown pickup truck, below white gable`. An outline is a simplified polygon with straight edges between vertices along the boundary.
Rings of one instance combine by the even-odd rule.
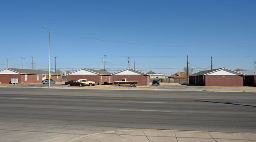
[[[149,84],[149,76],[147,75],[113,75],[113,85],[115,81],[127,78],[128,81],[138,80],[138,86],[147,86]]]

